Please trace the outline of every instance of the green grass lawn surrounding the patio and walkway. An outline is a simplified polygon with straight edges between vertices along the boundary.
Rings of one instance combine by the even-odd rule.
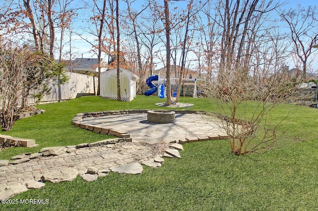
[[[155,103],[163,101],[155,96],[137,96],[130,103],[81,97],[38,105],[46,110],[44,114],[18,120],[11,131],[1,134],[35,139],[40,146],[5,149],[0,159],[45,146],[105,139],[104,135],[74,128],[71,120],[77,113],[154,109]],[[180,101],[195,104],[188,108],[191,110],[219,112],[206,98]],[[287,138],[266,153],[236,156],[227,140],[187,143],[181,159],[165,159],[158,169],[144,167],[141,175],[111,172],[93,182],[78,177],[72,182],[46,183],[40,190],[29,190],[12,199],[47,199],[49,204],[0,204],[0,210],[317,210],[318,109],[282,104],[272,111],[272,121],[280,121],[289,112],[280,129],[288,129]],[[294,141],[295,137],[304,141]]]

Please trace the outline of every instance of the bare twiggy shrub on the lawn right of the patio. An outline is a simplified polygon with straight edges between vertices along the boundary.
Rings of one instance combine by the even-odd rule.
[[[272,148],[283,120],[271,120],[272,109],[294,101],[297,84],[280,72],[232,68],[219,72],[222,80],[207,82],[201,90],[216,99],[217,116],[230,137],[231,152],[237,155]]]

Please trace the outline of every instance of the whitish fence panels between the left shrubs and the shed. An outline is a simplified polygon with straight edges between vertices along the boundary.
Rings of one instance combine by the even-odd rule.
[[[97,77],[75,72],[68,72],[67,76],[69,77],[69,80],[65,84],[61,84],[61,99],[59,99],[59,87],[57,85],[57,80],[52,80],[50,81],[50,94],[44,95],[40,102],[69,100],[83,95],[93,95],[94,83],[95,89],[97,90]],[[36,103],[37,99],[32,96],[35,93],[35,90],[30,92],[29,97],[26,99],[26,104]]]

